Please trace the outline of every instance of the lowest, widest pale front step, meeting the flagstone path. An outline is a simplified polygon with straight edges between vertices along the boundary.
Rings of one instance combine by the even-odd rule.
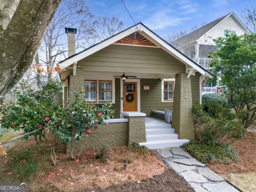
[[[172,140],[161,140],[161,141],[148,141],[144,143],[139,143],[140,146],[144,145],[149,149],[159,149],[167,147],[179,147],[184,143],[189,142],[187,139],[172,139]]]

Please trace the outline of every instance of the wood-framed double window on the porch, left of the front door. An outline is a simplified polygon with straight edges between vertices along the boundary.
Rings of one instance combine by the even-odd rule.
[[[112,100],[112,81],[84,80],[87,102],[104,103]]]

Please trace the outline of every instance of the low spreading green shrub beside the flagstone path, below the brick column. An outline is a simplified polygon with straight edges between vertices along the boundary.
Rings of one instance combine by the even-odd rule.
[[[232,146],[216,143],[205,144],[196,140],[184,144],[190,154],[203,163],[222,163],[229,164],[238,162],[238,154]]]

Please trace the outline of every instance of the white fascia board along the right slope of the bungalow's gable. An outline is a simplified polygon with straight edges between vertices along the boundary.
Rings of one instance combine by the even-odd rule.
[[[168,52],[170,55],[174,56],[176,59],[178,59],[180,62],[187,64],[191,68],[195,68],[196,71],[198,71],[200,74],[205,75],[205,70],[200,68],[197,64],[192,62],[190,59],[188,59],[186,56],[181,54],[178,50],[172,48],[169,44],[167,44],[165,41],[163,41],[161,38],[156,36],[154,33],[152,33],[150,30],[145,28],[144,26],[140,26],[142,29],[142,32],[139,32],[144,37],[148,38],[148,40],[152,41],[157,46],[162,47],[163,50]]]

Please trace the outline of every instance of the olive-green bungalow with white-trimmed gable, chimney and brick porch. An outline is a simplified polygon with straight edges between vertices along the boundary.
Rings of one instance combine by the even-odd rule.
[[[90,135],[90,143],[146,142],[144,117],[162,118],[165,109],[172,110],[178,138],[194,139],[192,102],[201,99],[201,82],[211,77],[204,68],[142,23],[77,54],[75,29],[66,32],[69,57],[60,62],[64,105],[85,88],[88,102],[112,100],[115,109],[115,118]]]

